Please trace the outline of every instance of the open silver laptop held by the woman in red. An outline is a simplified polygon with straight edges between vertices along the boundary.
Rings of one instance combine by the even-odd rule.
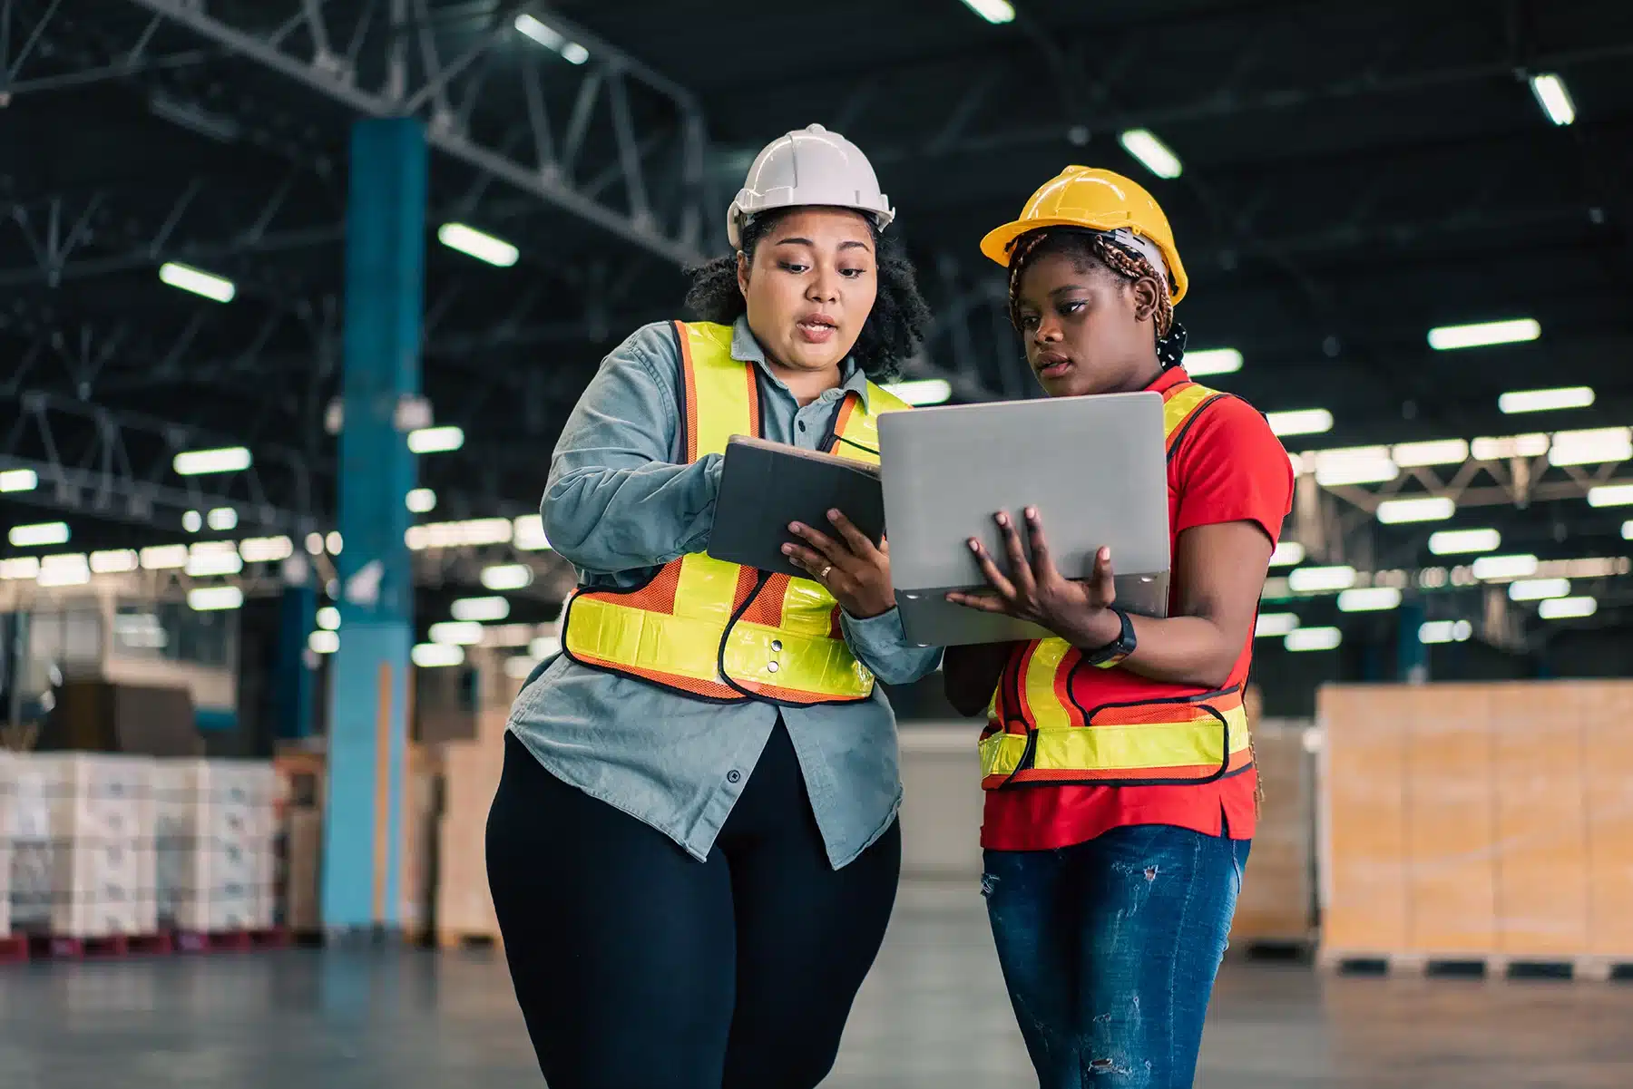
[[[1042,629],[950,604],[986,586],[967,540],[999,562],[993,514],[1043,519],[1055,567],[1086,578],[1112,550],[1117,604],[1168,616],[1168,457],[1161,393],[1110,393],[955,405],[879,418],[890,576],[908,638],[959,647],[1042,638]]]

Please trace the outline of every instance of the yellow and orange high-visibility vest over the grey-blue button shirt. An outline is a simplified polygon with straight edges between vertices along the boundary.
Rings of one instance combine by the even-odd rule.
[[[723,454],[733,434],[761,436],[759,369],[732,358],[732,328],[676,322],[674,336],[686,462]],[[877,465],[877,415],[905,408],[869,382],[867,405],[846,393],[818,447]],[[720,704],[848,704],[874,692],[874,674],[844,642],[839,604],[820,583],[704,552],[665,563],[632,589],[572,594],[562,650],[580,665]]]

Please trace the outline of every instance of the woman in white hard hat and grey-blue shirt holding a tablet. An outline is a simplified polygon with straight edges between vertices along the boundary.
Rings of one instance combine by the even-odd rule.
[[[931,673],[890,562],[839,513],[787,578],[705,553],[732,434],[877,460],[874,379],[928,310],[867,158],[768,145],[692,271],[702,322],[637,330],[555,447],[578,568],[563,651],[511,712],[488,880],[552,1089],[797,1089],[833,1065],[900,870],[895,722]]]

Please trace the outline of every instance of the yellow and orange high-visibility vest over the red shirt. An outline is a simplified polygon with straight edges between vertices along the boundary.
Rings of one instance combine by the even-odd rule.
[[[1226,397],[1195,382],[1163,393],[1168,460],[1190,424]],[[1253,767],[1241,689],[1092,704],[1081,650],[1063,638],[1026,643],[1009,656],[981,733],[981,785],[1106,787],[1213,782]]]

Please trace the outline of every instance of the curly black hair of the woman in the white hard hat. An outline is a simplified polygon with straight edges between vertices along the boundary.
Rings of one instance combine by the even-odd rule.
[[[794,209],[763,212],[743,224],[743,253],[754,260],[754,248],[784,216]],[[862,322],[862,331],[851,348],[851,358],[862,374],[875,382],[893,379],[901,364],[911,359],[929,327],[929,305],[918,289],[918,276],[906,256],[905,247],[892,235],[882,235],[872,217],[864,216],[874,235],[874,253],[879,263],[879,296],[874,309]],[[736,255],[717,256],[686,269],[692,279],[686,292],[686,305],[704,322],[730,325],[746,310],[743,292],[736,286]]]

